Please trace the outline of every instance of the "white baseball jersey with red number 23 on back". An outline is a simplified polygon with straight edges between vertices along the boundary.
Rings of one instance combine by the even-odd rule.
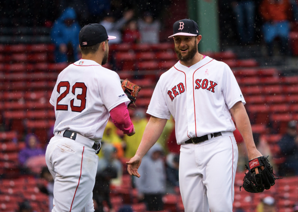
[[[71,130],[100,142],[109,111],[130,100],[116,72],[80,59],[59,74],[50,103],[55,107],[54,133]]]

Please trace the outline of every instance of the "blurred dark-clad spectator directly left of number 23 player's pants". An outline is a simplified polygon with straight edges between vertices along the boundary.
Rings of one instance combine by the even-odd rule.
[[[45,187],[43,184],[38,184],[40,192],[45,193],[49,196],[49,212],[53,209],[53,200],[54,200],[54,178],[50,173],[48,167],[43,167],[40,173],[40,177],[47,180],[48,184]]]

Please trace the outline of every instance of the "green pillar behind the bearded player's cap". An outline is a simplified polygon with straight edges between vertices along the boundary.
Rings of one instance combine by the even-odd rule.
[[[189,18],[198,23],[202,35],[199,51],[218,52],[220,40],[217,0],[188,0],[187,3]]]

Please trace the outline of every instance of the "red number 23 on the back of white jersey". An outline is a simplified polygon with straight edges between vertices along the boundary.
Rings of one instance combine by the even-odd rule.
[[[60,89],[61,87],[66,87],[66,90],[60,94]],[[71,93],[73,93],[75,95],[75,89],[76,88],[81,88],[82,89],[82,93],[78,94],[76,96],[77,99],[81,100],[81,105],[80,106],[74,106],[74,101],[75,99],[71,99],[70,100],[70,107],[71,107],[71,111],[74,112],[82,112],[85,107],[86,107],[86,93],[87,93],[87,87],[85,85],[84,82],[76,82],[73,86],[72,86],[72,90]],[[61,81],[59,82],[58,86],[57,86],[57,92],[60,94],[60,96],[58,96],[57,98],[57,104],[56,104],[56,110],[68,110],[68,105],[59,105],[58,103],[65,97],[68,95],[69,93],[69,89],[70,89],[70,84],[68,81]]]

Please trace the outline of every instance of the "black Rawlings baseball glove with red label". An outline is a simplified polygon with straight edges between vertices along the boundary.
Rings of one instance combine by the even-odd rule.
[[[264,189],[268,190],[271,186],[275,184],[275,180],[279,179],[274,177],[272,166],[267,159],[269,156],[260,156],[253,160],[248,161],[248,166],[246,167],[245,177],[243,179],[243,187],[246,191],[251,193],[260,193]],[[260,167],[264,166],[262,170]],[[255,168],[258,169],[259,173],[255,173]],[[240,186],[240,190],[241,187]]]

